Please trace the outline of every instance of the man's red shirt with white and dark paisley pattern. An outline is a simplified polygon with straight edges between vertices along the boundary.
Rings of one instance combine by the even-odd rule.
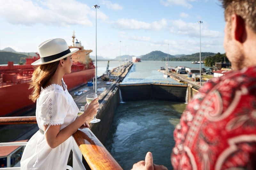
[[[256,169],[256,67],[206,83],[173,136],[174,169]]]

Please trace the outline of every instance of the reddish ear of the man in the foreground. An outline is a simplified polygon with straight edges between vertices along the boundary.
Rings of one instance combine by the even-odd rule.
[[[231,16],[231,23],[231,30],[234,33],[235,40],[244,43],[247,37],[244,19],[239,15],[233,14]]]

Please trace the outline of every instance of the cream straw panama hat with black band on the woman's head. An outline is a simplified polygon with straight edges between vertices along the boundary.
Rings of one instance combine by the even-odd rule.
[[[62,38],[46,40],[38,46],[40,59],[36,60],[34,63],[31,63],[31,65],[37,66],[59,61],[69,55],[74,54],[78,50],[78,48],[69,49],[67,42]]]

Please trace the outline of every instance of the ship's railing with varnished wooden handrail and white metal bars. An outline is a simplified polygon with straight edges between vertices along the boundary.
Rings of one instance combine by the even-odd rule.
[[[36,123],[36,116],[0,117],[0,125]],[[122,170],[122,167],[89,128],[79,128],[72,136],[73,169],[85,169],[86,166],[92,170]],[[7,144],[12,145],[13,143]],[[5,145],[6,143],[1,144]],[[21,144],[25,143],[22,142]],[[82,162],[82,156],[85,159],[84,163]]]

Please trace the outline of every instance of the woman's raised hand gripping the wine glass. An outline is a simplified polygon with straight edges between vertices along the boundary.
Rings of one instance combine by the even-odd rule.
[[[98,112],[98,109],[100,107],[100,103],[98,102],[99,98],[95,98],[91,101],[91,103],[88,105],[87,103],[84,106],[84,113],[82,114],[84,116],[84,122],[89,126],[87,123],[88,120],[93,119],[93,115],[96,115]],[[84,125],[87,127],[87,125],[84,123]]]

